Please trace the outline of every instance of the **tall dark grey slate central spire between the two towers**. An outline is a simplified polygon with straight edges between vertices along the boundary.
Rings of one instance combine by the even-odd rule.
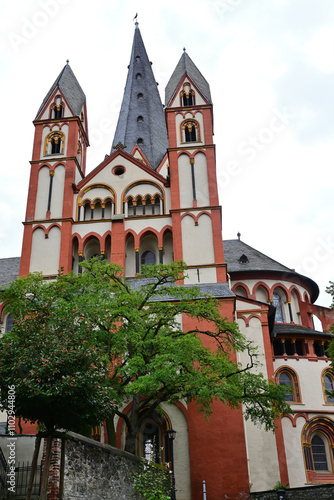
[[[138,23],[111,153],[119,142],[128,153],[138,144],[154,169],[168,147],[163,105]]]

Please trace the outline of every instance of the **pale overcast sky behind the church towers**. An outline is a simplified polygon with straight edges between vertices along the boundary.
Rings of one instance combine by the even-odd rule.
[[[223,237],[334,280],[333,0],[2,2],[0,258],[19,256],[33,119],[69,59],[87,97],[87,171],[109,153],[134,33],[164,89],[185,47],[211,86]]]

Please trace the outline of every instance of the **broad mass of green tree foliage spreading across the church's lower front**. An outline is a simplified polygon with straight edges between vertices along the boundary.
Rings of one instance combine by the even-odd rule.
[[[67,408],[73,424],[81,412],[98,422],[109,411],[126,422],[126,449],[135,453],[141,423],[162,402],[194,401],[206,416],[215,400],[243,405],[245,417],[266,429],[289,411],[284,391],[253,369],[256,349],[222,317],[221,303],[180,285],[184,263],[147,266],[128,281],[106,261],[83,268],[52,282],[20,278],[3,293],[15,321],[0,342],[0,385],[17,386],[25,401],[19,414],[46,423],[45,407],[59,415]],[[236,362],[243,351],[247,366]],[[5,406],[4,392],[1,398]],[[68,428],[66,422],[52,424]]]

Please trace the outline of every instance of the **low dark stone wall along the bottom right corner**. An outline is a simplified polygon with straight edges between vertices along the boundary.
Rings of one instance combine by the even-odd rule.
[[[251,493],[251,500],[277,500],[277,491]],[[317,484],[286,490],[285,500],[333,500],[333,484]]]

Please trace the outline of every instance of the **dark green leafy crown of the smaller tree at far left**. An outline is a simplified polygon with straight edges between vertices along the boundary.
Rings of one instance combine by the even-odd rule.
[[[15,320],[0,339],[0,402],[8,408],[14,385],[17,417],[49,431],[85,432],[110,414],[116,394],[91,326],[68,300],[70,279],[45,282],[32,274],[2,293]]]

